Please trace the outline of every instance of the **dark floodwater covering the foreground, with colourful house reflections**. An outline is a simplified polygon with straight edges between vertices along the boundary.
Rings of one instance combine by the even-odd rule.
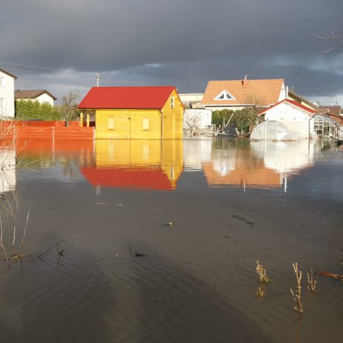
[[[3,246],[27,222],[29,255],[0,264],[1,342],[342,342],[342,283],[306,288],[343,274],[335,143],[19,141],[0,159]]]

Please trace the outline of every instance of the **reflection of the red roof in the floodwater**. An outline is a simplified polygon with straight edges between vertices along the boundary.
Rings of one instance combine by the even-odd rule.
[[[161,169],[97,168],[80,169],[92,186],[159,189],[170,191],[170,180]]]

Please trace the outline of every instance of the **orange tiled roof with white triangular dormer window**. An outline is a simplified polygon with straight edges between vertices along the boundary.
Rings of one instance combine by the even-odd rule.
[[[202,106],[211,110],[241,110],[257,106],[268,107],[285,99],[285,82],[275,80],[210,81],[207,84]]]

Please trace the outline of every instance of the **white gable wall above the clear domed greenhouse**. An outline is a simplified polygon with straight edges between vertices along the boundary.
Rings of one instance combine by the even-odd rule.
[[[309,120],[311,117],[310,113],[287,102],[274,106],[265,113],[265,120],[280,121],[290,131],[299,132],[304,139],[309,138],[309,132],[310,136],[314,132],[314,121]]]

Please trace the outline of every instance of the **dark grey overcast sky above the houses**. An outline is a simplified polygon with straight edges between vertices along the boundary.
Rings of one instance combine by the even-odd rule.
[[[12,0],[1,3],[0,68],[15,88],[165,85],[203,93],[209,80],[284,78],[343,106],[342,0]],[[22,65],[19,65],[22,64]],[[25,67],[31,66],[31,67]]]

